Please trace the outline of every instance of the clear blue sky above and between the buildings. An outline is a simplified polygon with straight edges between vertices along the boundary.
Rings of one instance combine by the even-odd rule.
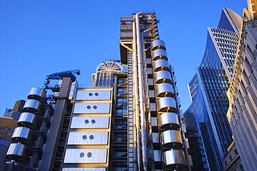
[[[3,1],[0,18],[0,116],[46,75],[81,69],[79,84],[103,60],[119,60],[119,17],[156,10],[160,39],[174,66],[183,111],[188,82],[206,46],[207,27],[217,27],[222,7],[242,15],[247,0],[202,1]]]

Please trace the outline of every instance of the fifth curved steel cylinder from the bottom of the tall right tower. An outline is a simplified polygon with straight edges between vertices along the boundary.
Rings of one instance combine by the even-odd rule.
[[[163,97],[172,97],[174,98],[174,90],[172,87],[172,84],[169,83],[162,83],[158,84],[156,87],[156,94],[157,98],[163,98]]]

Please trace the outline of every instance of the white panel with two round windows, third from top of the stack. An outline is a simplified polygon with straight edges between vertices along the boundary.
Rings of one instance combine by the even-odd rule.
[[[92,123],[95,120],[95,123]],[[74,116],[72,117],[71,128],[108,128],[109,117],[108,116]]]

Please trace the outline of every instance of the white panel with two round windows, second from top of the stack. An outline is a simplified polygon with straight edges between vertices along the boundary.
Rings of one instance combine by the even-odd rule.
[[[96,109],[94,109],[96,107]],[[75,103],[74,114],[109,114],[110,103]]]

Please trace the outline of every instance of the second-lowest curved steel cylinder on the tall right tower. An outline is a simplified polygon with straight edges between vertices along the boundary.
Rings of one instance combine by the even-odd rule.
[[[181,133],[178,130],[167,130],[160,134],[162,145],[164,148],[182,149]]]

